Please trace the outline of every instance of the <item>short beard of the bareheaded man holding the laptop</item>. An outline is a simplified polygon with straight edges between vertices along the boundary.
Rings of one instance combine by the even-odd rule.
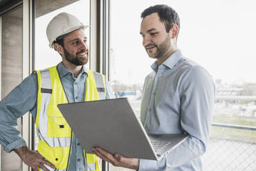
[[[156,45],[154,43],[150,44],[149,46],[155,46],[156,47],[156,53],[154,54],[150,54],[149,50],[146,49],[147,54],[149,55],[149,57],[154,58],[154,59],[159,59],[161,57],[163,57],[163,55],[167,52],[167,50],[169,50],[170,48],[170,37],[167,36],[165,41],[163,41],[163,43],[161,43],[160,45]]]

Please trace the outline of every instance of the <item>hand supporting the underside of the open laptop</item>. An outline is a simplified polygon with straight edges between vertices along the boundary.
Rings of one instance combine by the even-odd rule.
[[[138,170],[138,159],[123,157],[121,154],[117,153],[112,155],[101,148],[92,148],[91,150],[102,160],[107,161],[114,166]]]

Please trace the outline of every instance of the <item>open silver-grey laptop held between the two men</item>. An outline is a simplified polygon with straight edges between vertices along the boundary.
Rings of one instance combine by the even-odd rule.
[[[147,134],[127,98],[57,107],[87,153],[93,153],[93,147],[100,147],[111,154],[158,160],[188,137],[186,134]]]

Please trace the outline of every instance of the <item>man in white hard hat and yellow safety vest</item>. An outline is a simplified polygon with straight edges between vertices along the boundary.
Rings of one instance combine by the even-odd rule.
[[[14,150],[33,170],[100,170],[97,157],[84,152],[57,109],[59,103],[113,97],[104,75],[84,66],[88,61],[87,27],[71,14],[57,14],[48,23],[46,34],[62,62],[33,72],[0,102],[3,150]],[[16,130],[17,118],[28,111],[37,126],[37,152],[28,149]]]

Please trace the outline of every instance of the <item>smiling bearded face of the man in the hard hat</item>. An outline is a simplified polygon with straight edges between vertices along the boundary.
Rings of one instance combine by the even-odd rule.
[[[83,66],[88,62],[87,37],[83,29],[75,30],[64,37],[62,60],[75,66]]]

